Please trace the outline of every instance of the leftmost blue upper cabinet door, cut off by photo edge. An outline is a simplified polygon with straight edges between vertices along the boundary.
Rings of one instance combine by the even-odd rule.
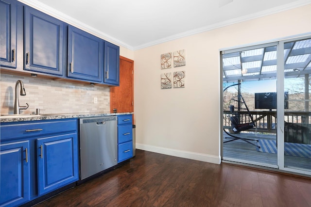
[[[17,53],[16,0],[0,0],[0,63],[16,68]]]

